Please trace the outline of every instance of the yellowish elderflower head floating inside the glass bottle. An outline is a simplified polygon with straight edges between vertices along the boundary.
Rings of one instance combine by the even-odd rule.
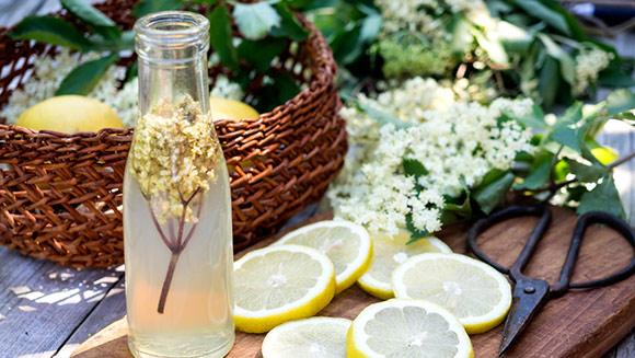
[[[129,169],[159,223],[182,216],[197,222],[193,204],[216,178],[221,153],[213,130],[210,115],[190,96],[165,101],[138,119]]]

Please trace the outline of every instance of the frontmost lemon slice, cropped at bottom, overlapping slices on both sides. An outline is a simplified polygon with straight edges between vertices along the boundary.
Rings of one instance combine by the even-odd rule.
[[[474,357],[465,330],[448,310],[424,300],[392,299],[367,307],[348,331],[349,358]]]

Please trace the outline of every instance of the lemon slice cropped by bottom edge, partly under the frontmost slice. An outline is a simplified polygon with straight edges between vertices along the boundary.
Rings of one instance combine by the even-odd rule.
[[[346,333],[350,320],[313,317],[281,324],[267,333],[264,358],[346,358]]]

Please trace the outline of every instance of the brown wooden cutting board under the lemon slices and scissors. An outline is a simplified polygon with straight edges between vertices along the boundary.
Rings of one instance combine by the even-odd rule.
[[[526,274],[554,282],[565,259],[576,224],[576,215],[567,209],[553,208],[552,224],[541,241]],[[327,219],[328,215],[309,222]],[[538,218],[526,217],[499,223],[478,240],[481,247],[499,264],[510,265],[520,253]],[[308,222],[307,222],[308,223]],[[466,252],[467,227],[454,226],[439,233],[458,253]],[[265,246],[277,238],[254,247]],[[590,227],[574,274],[574,281],[600,278],[626,266],[633,250],[619,233],[605,227]],[[354,286],[337,296],[319,315],[355,316],[368,304],[379,300]],[[613,286],[578,290],[550,301],[520,340],[505,357],[531,358],[598,358],[614,346],[635,326],[635,276]],[[472,336],[477,358],[497,357],[503,325],[484,334]],[[130,358],[127,348],[127,324],[117,321],[83,343],[72,355],[78,358]],[[236,332],[235,346],[228,357],[262,357],[259,349],[264,335]]]

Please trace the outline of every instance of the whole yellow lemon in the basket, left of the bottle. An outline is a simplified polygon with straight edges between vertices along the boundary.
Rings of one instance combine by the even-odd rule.
[[[81,95],[60,95],[43,101],[26,109],[16,125],[66,134],[124,128],[122,119],[107,104]]]

